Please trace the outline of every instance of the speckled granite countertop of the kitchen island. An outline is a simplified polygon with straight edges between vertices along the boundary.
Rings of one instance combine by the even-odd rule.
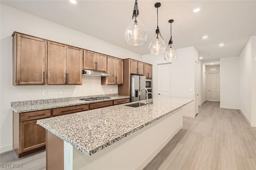
[[[40,119],[37,124],[90,156],[192,101],[156,98],[154,104],[148,106],[128,107],[125,103]]]

